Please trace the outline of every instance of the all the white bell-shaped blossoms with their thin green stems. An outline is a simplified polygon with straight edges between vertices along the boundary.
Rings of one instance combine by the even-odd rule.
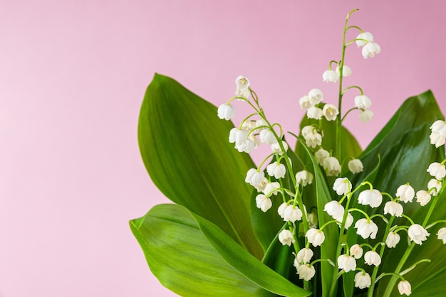
[[[345,49],[348,45],[356,43],[358,47],[362,47],[363,58],[373,58],[380,53],[380,45],[374,42],[371,33],[362,31],[358,26],[347,26],[347,21],[341,60],[332,60],[329,63],[328,70],[325,70],[322,75],[323,82],[339,81],[341,84],[343,77],[351,75],[351,68],[344,64]],[[359,30],[360,33],[356,38],[345,42],[346,32],[351,29]],[[333,64],[336,64],[336,70],[332,70]],[[247,172],[245,181],[256,189],[256,207],[262,212],[276,205],[277,215],[284,221],[284,227],[278,230],[277,238],[281,244],[294,249],[294,266],[299,279],[304,281],[313,279],[317,272],[315,264],[319,261],[328,261],[336,267],[334,279],[343,273],[357,271],[354,276],[354,286],[360,289],[368,288],[373,293],[373,288],[380,278],[387,275],[395,276],[400,279],[398,291],[401,294],[410,295],[410,283],[404,279],[400,270],[389,271],[378,276],[378,267],[385,249],[394,249],[400,244],[402,232],[408,234],[410,242],[421,245],[430,236],[428,229],[446,222],[440,220],[430,225],[427,225],[427,220],[422,223],[414,222],[405,214],[403,207],[408,203],[418,203],[420,207],[435,207],[432,200],[438,198],[445,185],[446,160],[430,164],[427,173],[432,179],[425,188],[418,189],[417,192],[410,183],[406,183],[400,185],[392,195],[374,188],[373,184],[366,180],[353,188],[351,180],[338,176],[347,173],[343,170],[345,163],[351,175],[361,173],[364,168],[363,163],[356,156],[341,160],[343,155],[340,146],[327,147],[324,144],[324,123],[330,121],[336,123],[336,144],[338,144],[343,119],[351,111],[358,109],[359,118],[363,122],[373,119],[373,112],[370,110],[371,101],[364,95],[361,87],[356,85],[346,88],[340,86],[338,106],[324,103],[322,90],[318,88],[309,90],[308,94],[299,99],[299,105],[306,111],[307,119],[311,120],[307,122],[313,124],[303,126],[300,136],[291,135],[296,136],[299,143],[306,146],[311,159],[320,166],[326,180],[330,181],[333,193],[338,195],[338,197],[336,195],[331,197],[325,205],[317,205],[317,207],[323,207],[326,216],[332,219],[323,221],[319,227],[317,216],[313,212],[307,212],[304,203],[306,188],[313,183],[313,169],[307,168],[308,164],[301,163],[300,166],[304,169],[298,171],[298,164],[291,163],[287,154],[288,144],[284,141],[280,124],[271,124],[266,119],[264,110],[260,107],[259,99],[251,89],[247,77],[242,75],[237,77],[236,86],[236,96],[219,106],[218,117],[226,120],[234,118],[235,109],[231,104],[234,99],[247,102],[254,109],[254,113],[243,119],[239,126],[229,132],[229,142],[233,143],[238,151],[245,153],[251,153],[260,144],[271,146],[269,156],[261,162],[259,167],[251,168]],[[360,95],[354,97],[353,107],[342,113],[343,96],[350,90],[358,90]],[[435,121],[430,129],[432,131],[430,143],[437,148],[445,144],[446,121]],[[268,165],[264,166],[265,164]],[[291,180],[291,185],[284,182],[286,177]],[[413,202],[414,199],[415,202]],[[360,209],[352,205],[362,205],[362,207]],[[313,259],[315,254],[313,250],[326,242],[324,229],[332,224],[339,227],[336,258]],[[299,239],[299,228],[303,231],[304,239]],[[380,228],[384,229],[380,230]],[[353,244],[347,242],[347,232],[354,232],[358,237],[358,242]],[[383,236],[378,237],[378,234],[383,234]],[[446,244],[446,227],[438,230],[437,238]],[[375,239],[374,245],[370,245],[368,243],[370,241],[365,239]],[[362,261],[361,265],[357,261]],[[336,285],[331,286],[329,295],[333,296]]]

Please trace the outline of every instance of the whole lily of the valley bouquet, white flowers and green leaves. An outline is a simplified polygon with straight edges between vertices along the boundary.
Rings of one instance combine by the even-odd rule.
[[[444,296],[446,122],[427,91],[361,150],[343,120],[373,112],[367,90],[346,85],[345,53],[358,45],[373,58],[380,46],[351,13],[342,55],[322,76],[339,85],[338,102],[309,90],[296,134],[269,121],[247,77],[217,109],[155,75],[140,151],[175,204],[130,227],[164,286],[181,296]],[[252,112],[234,126],[237,104]],[[271,146],[259,166],[249,157],[257,146]]]

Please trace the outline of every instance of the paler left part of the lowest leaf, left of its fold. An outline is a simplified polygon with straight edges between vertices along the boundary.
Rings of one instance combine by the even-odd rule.
[[[274,296],[229,265],[180,205],[156,205],[130,227],[152,273],[180,296]]]

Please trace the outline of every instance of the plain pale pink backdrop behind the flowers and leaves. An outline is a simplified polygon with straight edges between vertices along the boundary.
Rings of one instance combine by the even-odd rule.
[[[136,136],[155,72],[214,104],[247,75],[270,119],[296,131],[308,90],[336,102],[321,75],[358,7],[351,24],[382,48],[347,50],[346,83],[373,100],[374,121],[346,123],[365,146],[411,95],[430,88],[446,111],[444,3],[1,1],[0,296],[174,296],[128,227],[167,202]]]

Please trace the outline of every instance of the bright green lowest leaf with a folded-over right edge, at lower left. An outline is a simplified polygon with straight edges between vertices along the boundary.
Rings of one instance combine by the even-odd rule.
[[[262,264],[212,222],[180,205],[157,205],[130,227],[153,274],[182,296],[310,294]]]

